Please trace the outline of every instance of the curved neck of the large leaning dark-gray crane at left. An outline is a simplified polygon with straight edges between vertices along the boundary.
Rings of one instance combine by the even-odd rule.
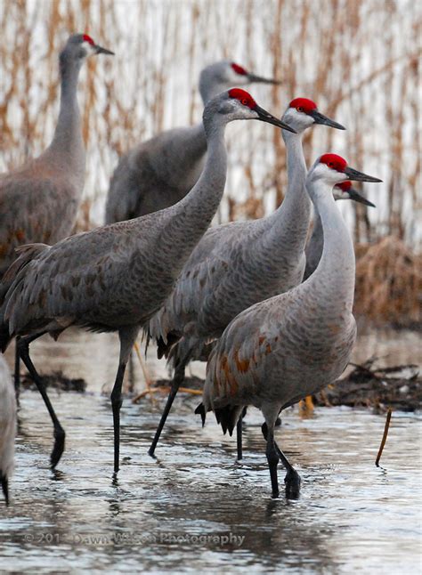
[[[227,173],[224,127],[207,127],[207,160],[202,174],[187,196],[170,208],[171,223],[163,241],[171,243],[173,249],[177,247],[180,261],[191,254],[207,231],[223,197]]]

